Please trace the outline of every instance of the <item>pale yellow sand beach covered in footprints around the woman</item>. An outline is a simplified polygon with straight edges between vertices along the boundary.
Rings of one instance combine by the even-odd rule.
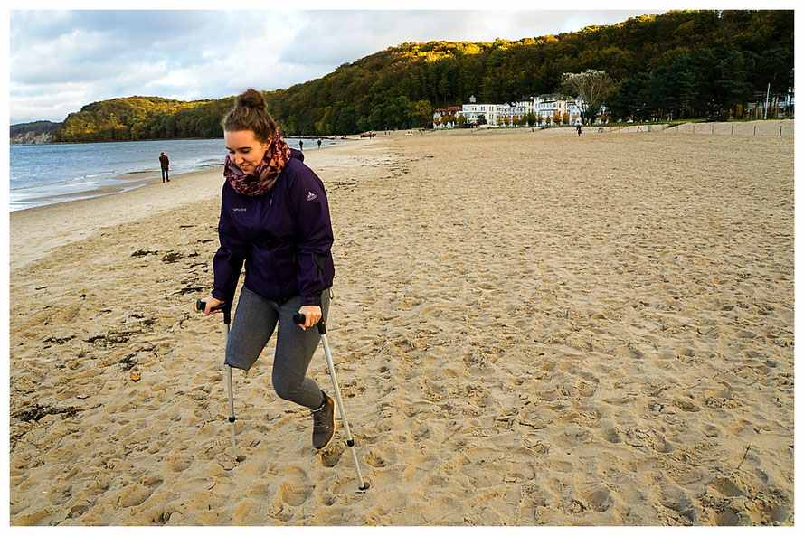
[[[340,419],[318,452],[271,390],[273,343],[235,371],[232,459],[194,311],[220,170],[14,212],[10,523],[793,524],[794,143],[760,125],[308,151],[365,492]]]

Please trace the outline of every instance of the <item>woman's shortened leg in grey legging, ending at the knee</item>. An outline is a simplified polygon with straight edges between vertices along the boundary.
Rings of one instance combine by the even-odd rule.
[[[243,371],[251,369],[268,344],[278,320],[277,311],[267,299],[242,287],[226,343],[225,363]]]

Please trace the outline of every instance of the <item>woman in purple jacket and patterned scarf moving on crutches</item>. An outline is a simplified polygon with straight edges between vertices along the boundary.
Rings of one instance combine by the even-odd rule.
[[[319,341],[317,330],[307,328],[326,319],[335,274],[324,184],[279,135],[259,91],[239,95],[222,126],[229,155],[218,223],[221,247],[204,313],[232,303],[245,262],[225,362],[248,371],[279,326],[273,388],[280,398],[312,411],[313,446],[324,448],[335,433],[335,406],[306,377]],[[293,322],[297,313],[304,324]]]

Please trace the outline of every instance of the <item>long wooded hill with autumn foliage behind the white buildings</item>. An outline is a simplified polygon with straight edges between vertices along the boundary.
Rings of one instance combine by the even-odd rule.
[[[552,93],[566,72],[606,71],[614,119],[740,118],[756,94],[787,93],[792,11],[674,11],[519,41],[402,43],[326,76],[265,92],[286,136],[425,127],[435,108]],[[245,89],[245,88],[243,88]],[[129,97],[71,113],[54,141],[222,136],[233,98]]]

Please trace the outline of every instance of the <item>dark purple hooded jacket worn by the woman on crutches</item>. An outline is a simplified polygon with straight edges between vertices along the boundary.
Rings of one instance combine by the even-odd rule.
[[[321,305],[335,276],[332,224],[324,183],[303,160],[291,149],[273,188],[258,197],[224,181],[213,297],[232,302],[245,261],[243,284],[252,292],[280,304],[301,296],[303,306]]]

